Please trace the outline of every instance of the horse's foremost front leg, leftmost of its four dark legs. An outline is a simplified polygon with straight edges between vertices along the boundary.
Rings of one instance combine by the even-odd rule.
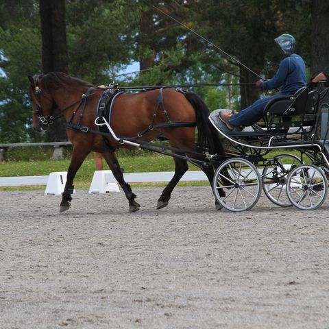
[[[90,150],[86,151],[86,149],[88,148],[73,147],[71,163],[69,165],[69,169],[67,170],[66,184],[64,187],[64,192],[62,193],[62,202],[60,202],[60,212],[69,210],[71,206],[71,194],[73,194],[74,190],[73,180],[75,178],[75,174],[81,167],[82,162],[84,162],[84,159],[86,159],[86,156],[88,156],[90,152]]]

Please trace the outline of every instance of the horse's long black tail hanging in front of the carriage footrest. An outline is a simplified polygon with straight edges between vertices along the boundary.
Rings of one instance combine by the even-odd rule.
[[[210,112],[206,103],[195,93],[184,93],[184,95],[195,110],[195,117],[197,120],[197,144],[199,147],[202,149],[208,147],[210,154],[225,154],[217,131],[208,119]]]

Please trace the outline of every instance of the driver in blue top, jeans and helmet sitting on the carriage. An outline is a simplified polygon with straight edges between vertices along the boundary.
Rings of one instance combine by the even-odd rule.
[[[271,80],[263,82],[258,80],[256,86],[264,89],[281,88],[280,94],[258,99],[240,112],[219,112],[219,119],[226,124],[229,130],[234,127],[247,127],[253,125],[263,117],[265,106],[271,99],[293,95],[298,89],[306,86],[306,68],[302,57],[293,53],[295,49],[295,38],[290,34],[282,34],[274,39],[284,58],[281,60],[278,71]]]

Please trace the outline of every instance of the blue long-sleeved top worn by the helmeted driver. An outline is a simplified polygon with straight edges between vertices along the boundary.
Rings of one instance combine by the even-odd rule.
[[[263,82],[263,88],[281,88],[283,95],[292,95],[299,88],[306,86],[306,67],[304,60],[297,54],[284,58],[278,72],[271,80]]]

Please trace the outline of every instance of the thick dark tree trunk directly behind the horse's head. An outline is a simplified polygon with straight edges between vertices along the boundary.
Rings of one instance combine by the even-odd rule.
[[[43,73],[67,72],[65,0],[40,0]],[[66,141],[62,119],[56,120],[46,132],[45,141]]]

